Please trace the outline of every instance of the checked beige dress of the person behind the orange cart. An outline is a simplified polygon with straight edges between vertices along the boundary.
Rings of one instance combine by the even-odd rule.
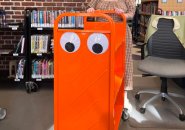
[[[135,13],[135,0],[91,0],[88,4],[96,10],[113,10],[119,8],[125,11],[127,19],[133,18]],[[120,21],[117,15],[111,16],[115,21]],[[132,34],[127,26],[126,33],[126,73],[125,90],[133,89],[133,61],[132,61]]]

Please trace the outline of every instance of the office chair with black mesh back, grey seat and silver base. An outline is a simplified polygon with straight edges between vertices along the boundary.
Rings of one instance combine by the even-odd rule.
[[[184,121],[185,115],[182,109],[170,96],[181,98],[185,98],[185,96],[167,91],[167,78],[185,77],[185,48],[174,34],[173,27],[174,21],[172,19],[159,19],[158,30],[149,38],[146,45],[148,56],[138,66],[139,70],[161,78],[160,92],[143,90],[137,92],[135,98],[139,100],[140,94],[143,93],[156,94],[140,108],[140,112],[143,114],[147,105],[152,101],[160,97],[163,101],[167,99],[179,110],[179,119]]]

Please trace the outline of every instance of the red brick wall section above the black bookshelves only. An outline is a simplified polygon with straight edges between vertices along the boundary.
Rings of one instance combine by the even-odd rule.
[[[8,21],[20,22],[24,9],[37,7],[41,10],[85,10],[90,0],[0,0],[0,9],[7,12]]]

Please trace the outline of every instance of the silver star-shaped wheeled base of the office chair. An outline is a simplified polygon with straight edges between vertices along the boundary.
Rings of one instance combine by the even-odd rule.
[[[163,93],[163,92],[159,92],[159,91],[151,91],[151,90],[145,90],[145,91],[139,91],[136,95],[135,95],[135,98],[136,100],[139,100],[140,99],[140,94],[143,94],[143,93],[150,93],[150,94],[155,94],[155,96],[153,96],[152,98],[150,98],[149,100],[147,100],[143,105],[142,107],[140,108],[140,112],[141,113],[145,113],[146,111],[146,107],[148,104],[150,104],[151,102],[155,101],[156,99],[158,98],[161,98],[163,101],[165,101],[166,99],[168,101],[170,101],[179,111],[179,119],[181,121],[184,121],[185,120],[185,115],[182,111],[182,109],[180,108],[180,106],[171,98],[171,96],[173,97],[179,97],[179,98],[184,98],[185,99],[185,96],[184,95],[179,95],[179,94],[175,94],[175,93]]]

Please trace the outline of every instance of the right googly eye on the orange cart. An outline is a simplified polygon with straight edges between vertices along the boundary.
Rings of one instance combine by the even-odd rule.
[[[109,47],[108,38],[102,33],[93,33],[87,40],[88,49],[94,54],[103,54]]]

